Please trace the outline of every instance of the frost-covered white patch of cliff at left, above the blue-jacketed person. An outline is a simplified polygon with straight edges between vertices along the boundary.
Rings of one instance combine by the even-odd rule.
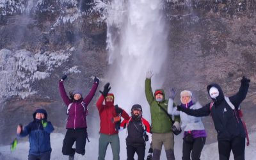
[[[49,77],[52,71],[67,61],[72,52],[72,49],[70,50],[33,54],[24,49],[15,52],[1,49],[0,103],[15,95],[24,99],[35,94],[37,91],[33,89],[33,83]],[[67,72],[79,70],[75,67]]]

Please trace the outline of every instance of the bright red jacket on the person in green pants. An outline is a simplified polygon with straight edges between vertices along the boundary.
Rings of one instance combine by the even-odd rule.
[[[109,93],[108,95],[114,97],[112,93]],[[100,115],[100,133],[108,135],[118,134],[118,131],[115,130],[115,123],[111,122],[112,118],[118,116],[118,114],[115,111],[114,100],[108,105],[103,104],[104,100],[104,96],[100,95],[99,100],[96,104]],[[121,116],[125,120],[129,120],[129,115],[124,111],[124,109],[122,111]]]

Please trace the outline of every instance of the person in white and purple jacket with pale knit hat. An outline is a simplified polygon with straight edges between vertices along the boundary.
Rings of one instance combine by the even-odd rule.
[[[206,139],[204,124],[200,117],[189,116],[182,111],[177,111],[176,107],[173,108],[173,99],[176,95],[176,90],[174,88],[170,88],[170,95],[168,114],[180,115],[181,127],[184,129],[182,160],[190,160],[190,157],[192,160],[198,160],[200,159]],[[189,90],[180,92],[180,101],[180,106],[184,108],[202,108],[199,102],[193,102],[192,93]]]

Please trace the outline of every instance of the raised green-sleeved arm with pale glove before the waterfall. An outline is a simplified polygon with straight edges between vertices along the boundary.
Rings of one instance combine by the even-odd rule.
[[[153,76],[151,71],[147,72],[147,78],[145,80],[145,94],[148,104],[151,104],[154,100],[154,95],[151,88],[151,77]]]

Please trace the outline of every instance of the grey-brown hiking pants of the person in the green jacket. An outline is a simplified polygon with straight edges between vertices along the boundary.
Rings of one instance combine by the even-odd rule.
[[[153,160],[159,160],[164,145],[167,160],[174,160],[174,137],[172,132],[152,133]]]

